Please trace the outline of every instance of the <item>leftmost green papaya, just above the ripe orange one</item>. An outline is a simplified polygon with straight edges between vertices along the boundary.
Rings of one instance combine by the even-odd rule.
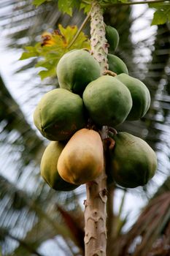
[[[34,110],[34,124],[48,140],[69,140],[85,126],[81,97],[65,89],[47,92]]]

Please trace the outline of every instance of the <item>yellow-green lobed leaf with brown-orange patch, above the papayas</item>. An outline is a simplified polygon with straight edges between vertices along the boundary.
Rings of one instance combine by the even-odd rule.
[[[77,26],[58,25],[58,29],[53,33],[45,32],[42,34],[42,42],[34,46],[27,46],[20,60],[36,58],[36,67],[42,67],[39,75],[43,79],[56,76],[56,67],[63,54],[73,49],[90,49],[88,37],[81,31],[77,39],[72,43],[72,39],[77,34]],[[69,47],[69,45],[71,45]]]

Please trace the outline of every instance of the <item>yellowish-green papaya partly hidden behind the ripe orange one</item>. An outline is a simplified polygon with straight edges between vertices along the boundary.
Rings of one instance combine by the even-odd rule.
[[[64,181],[57,170],[58,157],[65,145],[66,143],[61,141],[51,141],[47,148],[45,148],[40,164],[42,178],[50,187],[58,191],[70,191],[78,187]]]

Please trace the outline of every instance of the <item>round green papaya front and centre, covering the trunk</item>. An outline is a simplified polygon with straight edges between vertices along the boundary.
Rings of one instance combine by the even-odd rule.
[[[82,97],[90,117],[101,126],[114,127],[123,123],[132,107],[130,91],[109,75],[89,83]]]

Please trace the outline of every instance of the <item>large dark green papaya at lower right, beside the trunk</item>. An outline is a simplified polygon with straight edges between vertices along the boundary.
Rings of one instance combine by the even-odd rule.
[[[109,172],[121,187],[144,186],[157,168],[157,157],[141,138],[127,132],[112,135],[115,147],[109,151]]]

